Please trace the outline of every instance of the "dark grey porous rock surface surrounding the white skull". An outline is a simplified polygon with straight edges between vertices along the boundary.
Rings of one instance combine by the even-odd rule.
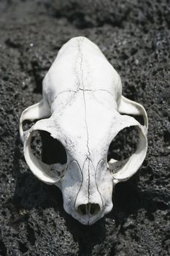
[[[1,256],[170,255],[169,29],[169,0],[0,1]],[[149,117],[142,167],[117,184],[114,208],[90,227],[66,214],[57,187],[34,177],[18,132],[59,48],[78,35],[101,48],[124,96]]]

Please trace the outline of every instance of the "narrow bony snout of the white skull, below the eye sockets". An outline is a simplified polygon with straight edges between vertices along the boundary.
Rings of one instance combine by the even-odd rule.
[[[112,210],[112,177],[103,160],[95,168],[86,159],[82,170],[76,161],[73,164],[62,181],[63,207],[83,225],[93,225]]]

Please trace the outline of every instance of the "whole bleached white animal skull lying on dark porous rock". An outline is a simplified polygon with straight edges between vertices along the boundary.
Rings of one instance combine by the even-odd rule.
[[[144,125],[128,115],[143,116]],[[39,121],[23,132],[23,121],[34,119]],[[122,162],[107,162],[110,143],[121,129],[131,126],[139,132],[135,153]],[[47,165],[34,156],[31,137],[36,130],[49,132],[63,145],[66,164]],[[144,161],[147,113],[123,97],[120,76],[101,50],[85,37],[74,37],[47,72],[42,100],[23,111],[20,137],[32,173],[61,189],[68,214],[92,225],[111,211],[115,184],[131,178]]]

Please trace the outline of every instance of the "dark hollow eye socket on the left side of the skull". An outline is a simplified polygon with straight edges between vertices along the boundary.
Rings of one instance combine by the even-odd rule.
[[[49,132],[34,131],[31,138],[31,149],[35,157],[47,165],[66,163],[66,149],[59,140],[51,137]]]

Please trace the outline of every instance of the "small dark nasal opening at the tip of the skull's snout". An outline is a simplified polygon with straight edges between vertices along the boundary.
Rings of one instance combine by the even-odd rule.
[[[77,211],[80,215],[96,215],[100,211],[98,203],[87,203],[78,206]]]

